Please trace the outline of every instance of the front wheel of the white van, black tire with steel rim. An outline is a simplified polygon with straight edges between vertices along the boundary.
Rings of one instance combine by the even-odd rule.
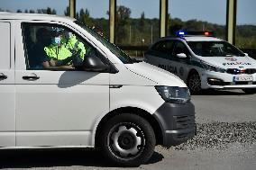
[[[111,118],[99,135],[100,149],[115,166],[140,166],[151,158],[154,130],[141,116],[123,113]]]

